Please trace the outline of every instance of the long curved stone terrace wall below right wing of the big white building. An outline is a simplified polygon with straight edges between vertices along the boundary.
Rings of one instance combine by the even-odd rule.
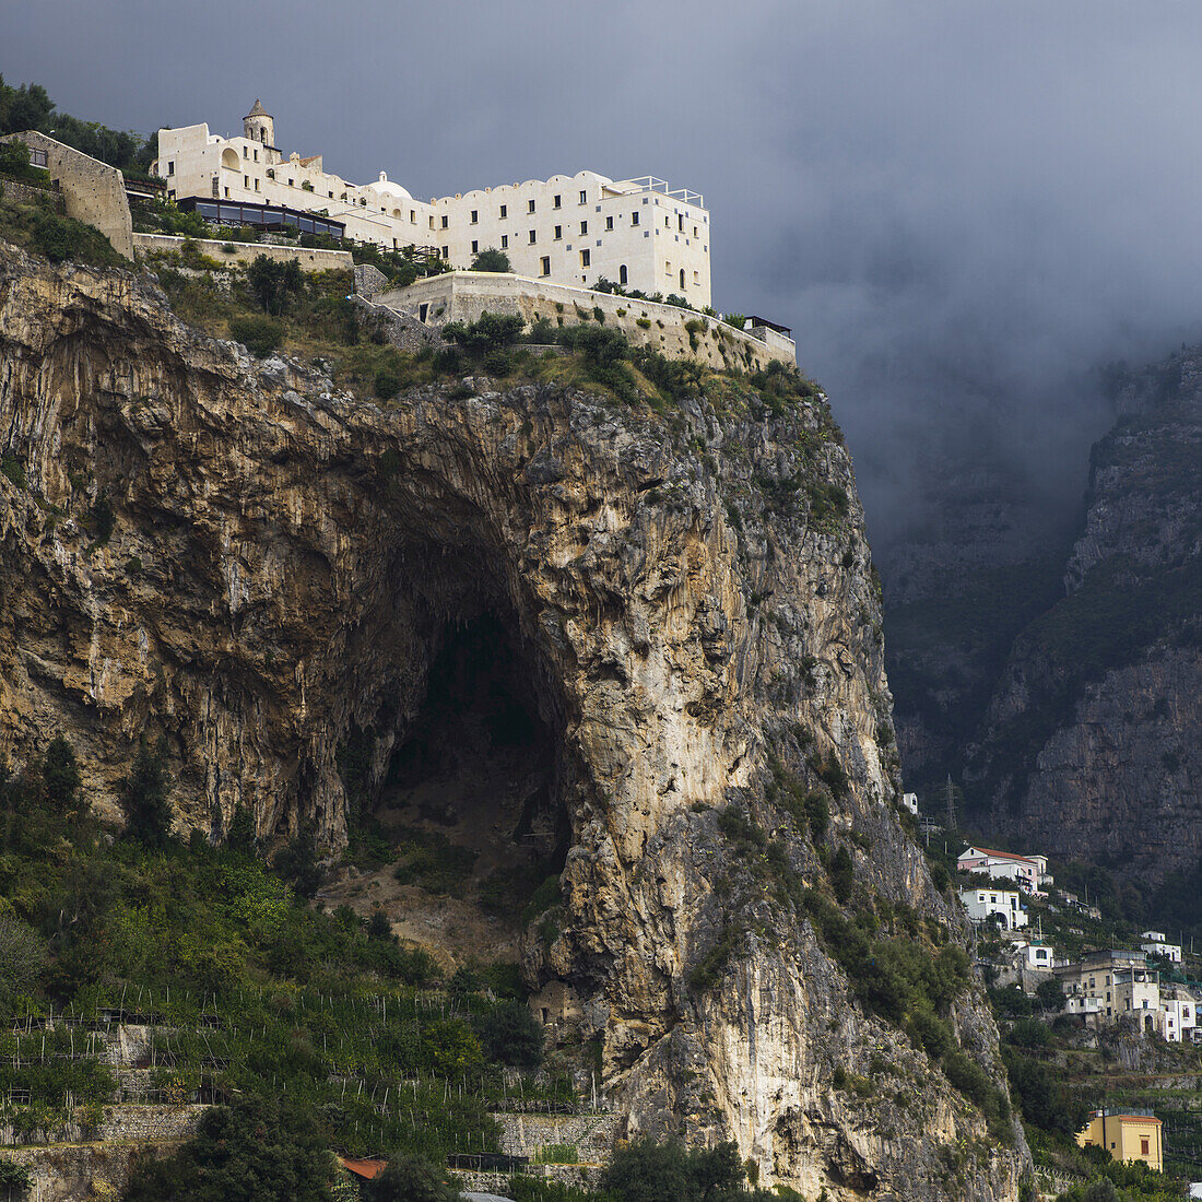
[[[796,359],[796,350],[792,356],[784,350],[792,343],[780,335],[778,345],[768,346],[691,309],[542,282],[526,275],[451,272],[376,293],[371,299],[434,328],[448,321],[476,321],[486,310],[517,314],[528,325],[546,317],[554,325],[576,326],[597,320],[594,310],[600,309],[605,325],[620,329],[632,346],[654,346],[668,358],[697,359],[719,371],[755,370],[767,367],[770,359]]]

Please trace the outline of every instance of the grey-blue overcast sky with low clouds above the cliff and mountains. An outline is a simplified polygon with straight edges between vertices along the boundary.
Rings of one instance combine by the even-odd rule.
[[[0,72],[415,196],[588,167],[703,192],[714,304],[793,327],[869,524],[928,452],[1061,506],[1090,373],[1197,340],[1202,5],[1109,0],[0,0]]]

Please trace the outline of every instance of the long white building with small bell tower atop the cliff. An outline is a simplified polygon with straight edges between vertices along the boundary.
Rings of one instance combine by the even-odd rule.
[[[427,246],[454,267],[496,248],[534,279],[585,287],[605,276],[696,308],[710,303],[703,197],[651,175],[582,171],[418,201],[383,172],[351,184],[327,172],[321,155],[285,155],[257,100],[242,137],[204,124],[160,130],[155,171],[173,200],[215,224],[287,224],[388,249]]]

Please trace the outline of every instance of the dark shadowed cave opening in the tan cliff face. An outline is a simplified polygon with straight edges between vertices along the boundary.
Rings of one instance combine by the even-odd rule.
[[[498,923],[513,935],[537,887],[561,871],[571,838],[554,720],[514,631],[496,614],[444,630],[376,810],[415,922],[453,921],[481,939]],[[438,904],[418,914],[423,895]],[[453,912],[436,918],[442,911]]]

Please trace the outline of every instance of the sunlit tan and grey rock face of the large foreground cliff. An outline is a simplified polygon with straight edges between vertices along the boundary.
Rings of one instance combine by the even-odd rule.
[[[597,1048],[623,1130],[734,1138],[809,1195],[1017,1195],[1022,1136],[990,1139],[865,1017],[783,885],[828,894],[838,849],[849,904],[960,934],[898,821],[876,588],[820,397],[732,386],[661,418],[477,379],[380,407],[202,338],[129,275],[2,248],[0,337],[13,761],[67,732],[119,816],[161,736],[182,828],[219,838],[242,803],[266,840],[313,822],[337,847],[346,749],[370,796],[440,651],[492,621],[549,732],[537,817],[569,832],[523,966],[552,1037]],[[828,828],[773,766],[826,781]],[[950,1019],[1000,1083],[978,984]]]

